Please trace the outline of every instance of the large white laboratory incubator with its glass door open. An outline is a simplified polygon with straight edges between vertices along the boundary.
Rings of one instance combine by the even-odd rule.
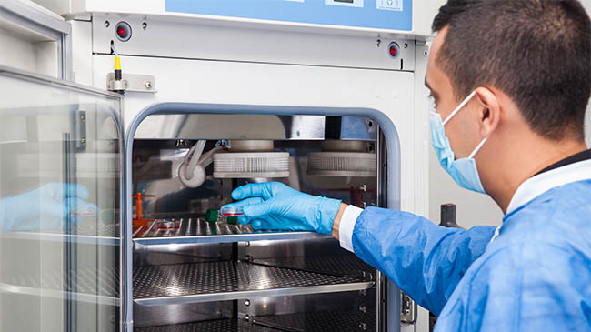
[[[40,3],[67,56],[0,67],[0,331],[426,328],[336,239],[223,206],[278,181],[426,214],[437,5]]]

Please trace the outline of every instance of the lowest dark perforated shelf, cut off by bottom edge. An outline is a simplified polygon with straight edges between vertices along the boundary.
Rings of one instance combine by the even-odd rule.
[[[281,331],[270,327],[261,327],[254,324],[249,324],[245,320],[238,319],[219,319],[208,320],[204,322],[195,322],[187,324],[167,325],[163,327],[142,327],[135,328],[136,332],[275,332]]]

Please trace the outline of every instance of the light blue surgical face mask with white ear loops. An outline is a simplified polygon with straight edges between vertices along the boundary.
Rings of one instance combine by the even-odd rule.
[[[446,123],[449,122],[453,116],[456,116],[456,113],[466,106],[470,99],[475,95],[476,91],[473,91],[470,95],[466,96],[466,99],[464,99],[460,105],[447,116],[445,121],[441,121],[441,116],[435,110],[431,110],[431,144],[435,149],[437,158],[439,158],[439,164],[446,170],[447,174],[452,176],[458,186],[485,194],[485,189],[480,182],[480,176],[478,176],[478,169],[476,168],[474,156],[476,156],[478,150],[480,150],[485,144],[487,138],[483,139],[480,144],[476,146],[470,156],[467,158],[456,159],[454,151],[449,145],[446,130],[444,129]]]

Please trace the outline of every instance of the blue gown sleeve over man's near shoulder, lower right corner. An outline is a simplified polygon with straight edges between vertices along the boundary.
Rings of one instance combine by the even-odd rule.
[[[496,250],[469,274],[437,330],[591,330],[589,253],[544,242],[516,244]]]

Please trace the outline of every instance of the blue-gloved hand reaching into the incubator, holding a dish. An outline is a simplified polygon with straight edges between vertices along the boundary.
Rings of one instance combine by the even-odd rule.
[[[243,201],[228,206],[243,206],[245,216],[238,221],[253,229],[308,230],[330,235],[341,201],[301,193],[279,182],[240,186],[232,198]]]

